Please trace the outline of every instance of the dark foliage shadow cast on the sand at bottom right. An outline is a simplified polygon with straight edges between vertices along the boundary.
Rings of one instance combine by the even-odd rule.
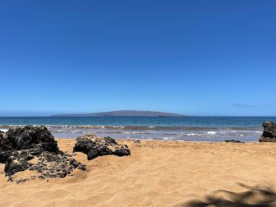
[[[203,207],[203,206],[222,206],[222,207],[255,207],[255,206],[276,206],[276,194],[273,188],[268,186],[246,186],[238,184],[246,188],[242,193],[234,193],[227,190],[217,190],[215,193],[207,195],[202,200],[188,201],[180,206],[187,207]]]

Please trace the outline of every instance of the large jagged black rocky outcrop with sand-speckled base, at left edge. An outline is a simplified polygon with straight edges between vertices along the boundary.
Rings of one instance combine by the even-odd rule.
[[[36,159],[36,162],[32,162]],[[59,150],[57,141],[44,126],[25,126],[0,132],[0,162],[5,163],[6,176],[14,180],[17,172],[33,170],[39,178],[66,177],[75,168],[85,166],[68,159]],[[26,181],[27,179],[21,179]]]

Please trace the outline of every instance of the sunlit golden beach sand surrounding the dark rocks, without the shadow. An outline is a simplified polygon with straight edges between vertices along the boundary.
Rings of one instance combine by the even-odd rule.
[[[57,141],[72,152],[75,139]],[[75,170],[64,179],[16,184],[7,181],[1,164],[0,206],[188,206],[186,201],[209,195],[248,203],[274,199],[262,190],[276,186],[276,144],[118,142],[128,144],[132,155],[88,161],[78,152],[74,158],[88,171]]]

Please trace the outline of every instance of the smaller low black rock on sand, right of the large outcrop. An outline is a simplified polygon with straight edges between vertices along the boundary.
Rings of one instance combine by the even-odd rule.
[[[97,137],[96,135],[83,135],[77,138],[73,152],[83,152],[88,160],[103,155],[130,155],[127,145],[119,145],[111,137]]]

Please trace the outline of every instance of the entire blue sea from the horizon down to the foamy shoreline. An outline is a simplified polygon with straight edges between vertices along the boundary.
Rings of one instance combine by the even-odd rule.
[[[0,117],[0,130],[45,125],[55,137],[86,133],[122,139],[258,141],[262,122],[276,117]]]

